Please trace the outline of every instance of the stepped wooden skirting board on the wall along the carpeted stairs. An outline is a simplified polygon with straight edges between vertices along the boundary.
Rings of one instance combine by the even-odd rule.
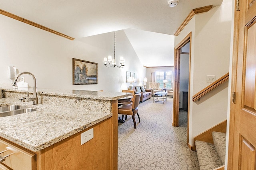
[[[204,131],[203,133],[200,133],[199,135],[194,137],[193,150],[196,151],[195,141],[204,141],[204,142],[213,144],[212,132],[226,133],[226,131],[227,131],[227,120],[224,120],[224,121],[220,122],[218,125],[211,127],[210,129]]]

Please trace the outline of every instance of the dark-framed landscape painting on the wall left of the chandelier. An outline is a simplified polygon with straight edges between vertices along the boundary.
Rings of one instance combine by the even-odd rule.
[[[73,85],[98,84],[98,63],[74,58],[72,60]]]

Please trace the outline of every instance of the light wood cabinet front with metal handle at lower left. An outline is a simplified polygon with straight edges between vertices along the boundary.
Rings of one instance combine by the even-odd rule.
[[[3,152],[4,151],[4,152]],[[0,169],[8,170],[36,170],[36,154],[20,147],[16,147],[7,141],[0,139],[0,156],[4,157],[8,154],[2,163]]]

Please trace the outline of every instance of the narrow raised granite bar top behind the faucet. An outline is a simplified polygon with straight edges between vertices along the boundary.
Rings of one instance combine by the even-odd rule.
[[[33,93],[33,88],[2,88],[3,91],[10,92],[30,92]],[[89,98],[98,100],[118,100],[120,98],[129,96],[130,93],[122,92],[101,92],[101,91],[88,91],[88,90],[58,90],[58,89],[38,89],[37,94],[66,96],[76,98]]]

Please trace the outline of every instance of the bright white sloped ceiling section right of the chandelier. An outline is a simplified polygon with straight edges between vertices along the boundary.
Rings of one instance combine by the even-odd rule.
[[[130,28],[124,32],[144,66],[174,65],[174,35]]]

